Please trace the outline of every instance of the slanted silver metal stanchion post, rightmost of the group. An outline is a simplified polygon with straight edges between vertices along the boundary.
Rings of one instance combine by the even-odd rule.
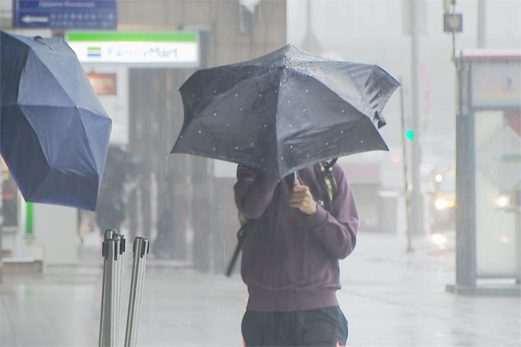
[[[148,242],[148,238],[146,237],[136,237],[134,239],[134,261],[132,263],[132,278],[130,281],[130,298],[127,314],[127,331],[125,333],[125,347],[133,347],[138,343],[138,329],[141,315],[141,302],[143,299],[146,257],[149,246],[150,242]]]

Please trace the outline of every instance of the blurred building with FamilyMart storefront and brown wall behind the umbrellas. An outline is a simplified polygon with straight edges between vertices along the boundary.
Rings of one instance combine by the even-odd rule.
[[[108,172],[96,215],[24,203],[4,168],[4,221],[11,224],[4,228],[4,256],[53,264],[48,253],[58,248],[52,239],[67,234],[71,237],[64,242],[74,251],[57,263],[75,263],[78,241],[93,232],[100,235],[95,229],[114,227],[132,239],[150,237],[158,258],[185,261],[205,272],[224,271],[239,225],[232,189],[235,168],[204,158],[169,156],[183,121],[178,88],[197,69],[255,58],[285,45],[286,2],[1,4],[3,30],[64,37],[113,119]],[[126,44],[135,41],[142,45],[139,52]],[[157,42],[170,44],[176,52],[168,47],[159,52]],[[109,51],[112,55],[106,58]],[[143,52],[148,56],[135,59]],[[58,216],[70,220],[61,228],[51,221],[45,224],[42,209],[51,221]],[[38,232],[29,226],[38,226]],[[55,233],[44,232],[47,228]]]

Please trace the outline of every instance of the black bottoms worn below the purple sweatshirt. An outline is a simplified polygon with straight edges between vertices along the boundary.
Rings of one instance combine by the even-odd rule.
[[[348,321],[338,306],[291,312],[246,311],[242,337],[251,346],[345,345]]]

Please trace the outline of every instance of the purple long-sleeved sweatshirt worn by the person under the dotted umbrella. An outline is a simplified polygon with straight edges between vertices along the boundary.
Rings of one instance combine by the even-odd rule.
[[[248,286],[247,310],[301,311],[337,306],[339,259],[355,247],[358,216],[348,182],[333,166],[338,194],[331,212],[317,204],[306,215],[290,207],[293,175],[281,179],[237,168],[233,187],[239,212],[253,220],[242,252],[241,275]],[[315,201],[325,200],[315,166],[297,172]]]

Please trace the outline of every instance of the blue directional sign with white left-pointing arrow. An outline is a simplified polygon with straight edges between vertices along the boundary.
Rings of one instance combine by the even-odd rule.
[[[116,29],[117,0],[16,0],[15,27]]]

